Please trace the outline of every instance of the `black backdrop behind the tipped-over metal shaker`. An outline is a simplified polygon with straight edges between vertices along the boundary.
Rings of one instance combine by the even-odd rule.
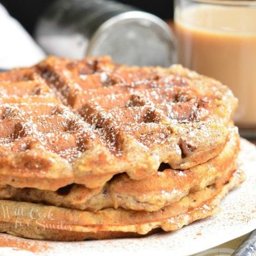
[[[36,20],[54,1],[56,0],[1,0],[0,3],[30,34],[33,34]],[[118,2],[131,4],[164,20],[173,19],[173,0],[118,0]]]

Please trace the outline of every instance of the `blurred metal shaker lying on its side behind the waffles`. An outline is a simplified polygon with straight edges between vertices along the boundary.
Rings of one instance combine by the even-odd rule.
[[[47,54],[69,58],[109,55],[127,65],[176,61],[170,27],[150,13],[106,0],[57,0],[42,15],[35,38]]]

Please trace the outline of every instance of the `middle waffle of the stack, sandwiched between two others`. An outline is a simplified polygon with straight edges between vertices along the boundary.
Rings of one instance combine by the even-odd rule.
[[[131,180],[123,173],[103,188],[93,189],[78,184],[68,185],[58,191],[19,189],[5,185],[0,188],[0,199],[87,211],[99,211],[107,207],[159,211],[166,205],[179,202],[189,192],[200,191],[225,177],[230,170],[235,170],[238,152],[239,134],[234,127],[230,128],[230,138],[218,156],[188,170],[172,170],[163,166],[163,170],[143,180]]]

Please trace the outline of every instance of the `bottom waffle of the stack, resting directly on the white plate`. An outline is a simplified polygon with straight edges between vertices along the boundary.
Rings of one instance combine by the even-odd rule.
[[[58,241],[143,236],[177,230],[218,211],[220,199],[244,180],[241,170],[228,173],[215,184],[189,193],[159,211],[108,208],[97,212],[0,200],[0,232]]]

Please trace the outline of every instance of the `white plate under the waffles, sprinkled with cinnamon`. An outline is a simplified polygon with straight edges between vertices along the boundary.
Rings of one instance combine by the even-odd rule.
[[[162,255],[185,256],[202,252],[218,244],[225,243],[256,228],[256,147],[242,140],[239,155],[243,159],[246,181],[231,191],[221,202],[219,214],[196,221],[176,232],[158,233],[153,236],[133,239],[113,239],[83,242],[45,242],[32,241],[0,234],[1,239],[12,239],[14,243],[25,247],[35,246],[36,252],[17,250],[17,248],[0,248],[1,256],[17,255],[145,255],[145,253],[164,253]],[[2,242],[3,244],[3,242]],[[34,246],[34,247],[33,247]],[[46,250],[45,246],[47,247]],[[20,247],[20,246],[17,246]],[[157,255],[156,254],[156,255]]]

